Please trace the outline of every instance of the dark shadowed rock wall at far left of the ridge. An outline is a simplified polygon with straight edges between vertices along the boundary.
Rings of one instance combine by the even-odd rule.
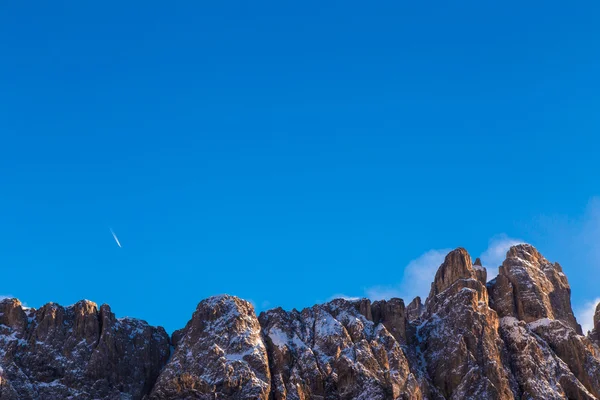
[[[164,329],[107,305],[0,302],[1,399],[141,399],[168,356]]]

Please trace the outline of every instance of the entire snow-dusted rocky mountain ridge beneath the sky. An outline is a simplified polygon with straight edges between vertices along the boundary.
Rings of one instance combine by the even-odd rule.
[[[0,400],[600,399],[591,332],[561,266],[512,247],[487,282],[450,252],[429,296],[304,310],[203,300],[171,337],[108,305],[0,302]]]

